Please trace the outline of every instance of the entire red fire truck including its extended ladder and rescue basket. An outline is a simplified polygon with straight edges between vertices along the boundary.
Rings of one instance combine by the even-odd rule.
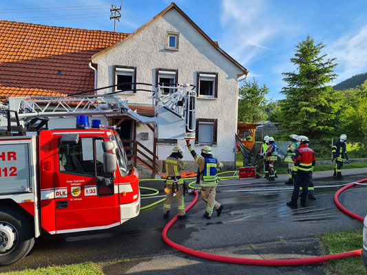
[[[43,233],[107,229],[138,216],[138,170],[116,127],[99,120],[90,126],[89,118],[127,115],[153,123],[157,138],[194,138],[196,92],[189,85],[153,87],[154,118],[114,93],[17,97],[0,105],[0,265],[23,259]],[[74,129],[48,129],[50,118],[70,116]]]

